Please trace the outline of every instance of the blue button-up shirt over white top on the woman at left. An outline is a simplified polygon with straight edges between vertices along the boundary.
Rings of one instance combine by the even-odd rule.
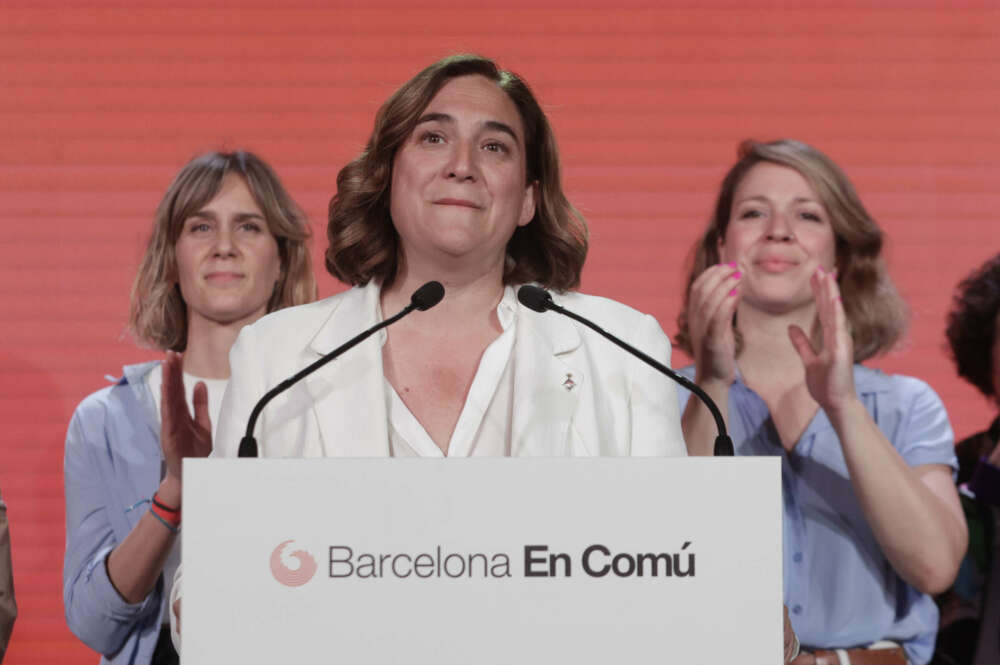
[[[125,367],[120,381],[80,403],[66,433],[63,605],[70,630],[103,654],[101,663],[149,663],[163,620],[162,576],[131,604],[105,565],[162,477],[159,419],[145,380],[156,364]]]

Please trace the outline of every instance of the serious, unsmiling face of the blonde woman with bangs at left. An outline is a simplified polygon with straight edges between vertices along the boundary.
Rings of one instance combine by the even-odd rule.
[[[189,335],[206,323],[245,325],[267,312],[281,275],[278,243],[240,176],[226,175],[219,193],[184,220],[175,252]]]

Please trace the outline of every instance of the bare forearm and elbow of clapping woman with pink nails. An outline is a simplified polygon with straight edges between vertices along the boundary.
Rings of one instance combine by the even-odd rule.
[[[858,400],[827,415],[840,437],[865,518],[893,568],[925,593],[946,588],[958,570],[968,532],[957,498],[948,500],[954,487],[945,467],[921,472],[908,466]]]

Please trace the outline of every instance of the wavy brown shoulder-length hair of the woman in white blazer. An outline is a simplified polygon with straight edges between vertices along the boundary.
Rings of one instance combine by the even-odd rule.
[[[327,271],[352,285],[372,279],[392,283],[399,261],[399,236],[389,212],[393,160],[434,95],[461,76],[483,76],[514,102],[524,123],[526,181],[537,183],[535,216],[518,227],[507,244],[504,283],[538,282],[559,291],[576,288],[587,256],[587,224],[563,193],[552,128],[523,79],[477,55],[435,62],[379,109],[364,151],[337,176],[326,229]]]

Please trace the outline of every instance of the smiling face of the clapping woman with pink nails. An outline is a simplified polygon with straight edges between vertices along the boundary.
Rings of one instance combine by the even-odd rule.
[[[810,276],[817,266],[833,270],[837,258],[830,216],[813,188],[771,162],[736,187],[719,254],[740,264],[742,302],[776,313],[811,306]]]

